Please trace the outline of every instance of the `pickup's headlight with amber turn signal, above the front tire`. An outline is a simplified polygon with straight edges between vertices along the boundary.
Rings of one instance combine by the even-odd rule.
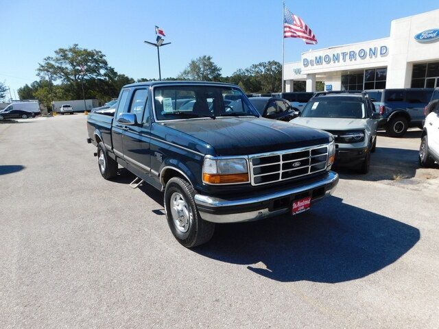
[[[204,158],[203,182],[233,184],[249,182],[246,158]]]

